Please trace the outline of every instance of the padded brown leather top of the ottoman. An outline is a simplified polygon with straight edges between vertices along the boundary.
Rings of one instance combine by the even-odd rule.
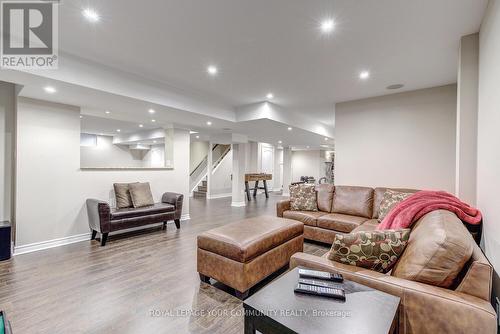
[[[298,221],[261,216],[203,232],[198,248],[245,263],[303,233]]]

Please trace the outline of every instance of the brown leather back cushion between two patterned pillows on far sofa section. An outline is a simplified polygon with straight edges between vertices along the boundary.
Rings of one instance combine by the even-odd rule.
[[[336,186],[332,202],[332,212],[334,213],[371,218],[373,214],[373,189]]]

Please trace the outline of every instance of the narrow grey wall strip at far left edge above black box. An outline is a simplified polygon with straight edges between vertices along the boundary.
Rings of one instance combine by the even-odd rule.
[[[12,221],[16,85],[0,81],[0,221]]]

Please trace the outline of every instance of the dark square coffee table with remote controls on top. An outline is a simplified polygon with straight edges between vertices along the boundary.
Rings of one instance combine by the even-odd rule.
[[[346,301],[296,294],[298,268],[247,298],[245,334],[392,333],[399,297],[344,280]]]

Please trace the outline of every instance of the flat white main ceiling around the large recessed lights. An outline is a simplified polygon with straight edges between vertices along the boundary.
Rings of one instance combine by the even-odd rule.
[[[62,1],[60,49],[233,107],[276,104],[332,124],[335,102],[456,82],[487,0]],[[91,24],[81,10],[102,16]],[[322,19],[335,31],[324,36]],[[219,67],[217,77],[205,68]],[[361,70],[371,78],[360,82]]]

